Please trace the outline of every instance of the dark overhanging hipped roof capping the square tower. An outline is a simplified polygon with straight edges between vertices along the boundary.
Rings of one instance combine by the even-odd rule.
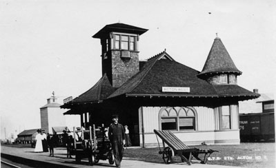
[[[131,34],[143,34],[144,32],[148,31],[148,29],[138,28],[133,25],[127,25],[124,23],[114,23],[110,25],[104,26],[99,32],[97,32],[93,38],[101,39],[104,36],[109,36],[110,32],[125,32]]]

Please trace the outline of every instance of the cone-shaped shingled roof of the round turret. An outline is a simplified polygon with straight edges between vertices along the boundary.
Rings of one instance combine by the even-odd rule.
[[[202,74],[217,72],[233,72],[239,75],[242,74],[242,72],[237,69],[219,37],[215,38],[212,48],[208,54],[208,58],[202,71],[199,73],[199,76],[202,76]]]

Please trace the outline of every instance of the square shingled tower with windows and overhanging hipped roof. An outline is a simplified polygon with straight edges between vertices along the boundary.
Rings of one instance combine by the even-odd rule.
[[[124,23],[106,25],[93,38],[101,39],[101,70],[112,87],[120,87],[139,72],[139,36],[148,30]]]

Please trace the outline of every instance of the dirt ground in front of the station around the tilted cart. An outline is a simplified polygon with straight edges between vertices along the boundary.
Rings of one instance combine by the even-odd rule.
[[[240,145],[200,145],[190,146],[199,149],[214,149],[208,158],[208,165],[228,165],[237,167],[275,167],[275,143],[241,143]],[[162,150],[162,148],[161,148]],[[158,154],[159,147],[126,149],[124,156],[145,162],[164,162]],[[173,162],[181,162],[179,156]]]

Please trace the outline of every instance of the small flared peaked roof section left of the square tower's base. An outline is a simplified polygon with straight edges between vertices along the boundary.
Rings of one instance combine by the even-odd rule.
[[[95,103],[101,102],[106,99],[115,88],[112,87],[106,74],[99,79],[99,81],[90,88],[90,90],[84,92],[77,98],[74,98],[70,103]]]

